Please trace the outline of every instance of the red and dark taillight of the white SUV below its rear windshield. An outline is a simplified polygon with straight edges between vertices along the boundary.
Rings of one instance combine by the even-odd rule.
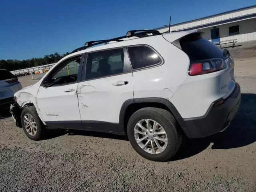
[[[192,62],[188,71],[189,75],[202,75],[207,73],[216,72],[227,68],[224,60],[220,58],[201,60]]]

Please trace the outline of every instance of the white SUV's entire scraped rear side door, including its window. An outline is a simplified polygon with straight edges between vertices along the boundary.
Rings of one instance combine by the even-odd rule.
[[[88,53],[85,78],[77,88],[84,129],[117,131],[122,104],[134,98],[126,60],[123,48]]]

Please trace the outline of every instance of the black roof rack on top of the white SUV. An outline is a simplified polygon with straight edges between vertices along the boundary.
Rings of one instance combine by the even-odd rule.
[[[122,40],[123,38],[127,38],[127,37],[132,37],[132,36],[145,37],[145,36],[148,36],[147,34],[150,34],[150,33],[152,33],[152,35],[160,35],[160,32],[158,30],[146,30],[146,29],[131,30],[131,31],[128,31],[126,33],[126,36],[121,36],[121,37],[116,37],[116,38],[106,39],[106,40],[97,40],[97,41],[85,42],[83,47],[77,48],[74,51],[72,51],[71,53],[78,52],[78,51],[81,51],[81,50],[85,50],[88,47],[103,44],[103,43],[107,43],[107,42],[110,42],[110,41],[120,42],[120,41],[123,41]]]

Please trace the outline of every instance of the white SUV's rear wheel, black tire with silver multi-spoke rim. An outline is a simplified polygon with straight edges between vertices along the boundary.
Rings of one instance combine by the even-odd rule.
[[[153,126],[154,124],[157,126]],[[144,126],[140,128],[142,125]],[[149,128],[145,129],[147,125]],[[159,131],[153,127],[157,127]],[[160,134],[160,132],[164,134]],[[127,135],[138,154],[148,160],[158,162],[172,158],[182,142],[182,133],[178,122],[170,112],[160,108],[148,107],[136,111],[128,121]],[[138,135],[141,136],[138,137]],[[144,137],[145,139],[140,142]],[[144,148],[144,146],[146,147]]]

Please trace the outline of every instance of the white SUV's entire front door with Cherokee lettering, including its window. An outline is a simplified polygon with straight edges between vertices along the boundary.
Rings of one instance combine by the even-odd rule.
[[[82,129],[76,89],[82,56],[58,64],[45,78],[52,79],[50,87],[40,86],[37,95],[42,120],[50,128]],[[44,80],[43,80],[44,81]]]

